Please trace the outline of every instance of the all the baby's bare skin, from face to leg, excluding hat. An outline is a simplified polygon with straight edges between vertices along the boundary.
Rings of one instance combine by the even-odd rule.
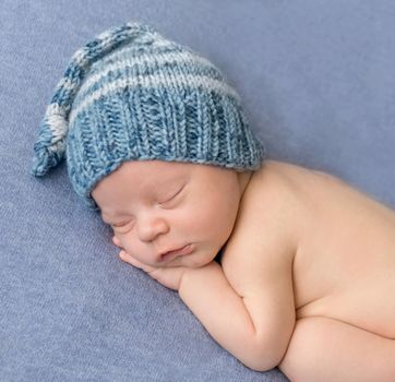
[[[339,179],[273,160],[251,177],[198,167],[181,199],[155,211],[148,199],[139,202],[145,166],[133,166],[93,193],[107,222],[129,204],[117,218],[123,228],[115,228],[115,243],[130,252],[122,260],[170,271],[158,280],[180,288],[231,354],[256,370],[278,365],[291,381],[395,380],[394,211]],[[160,166],[154,181],[168,168]],[[196,214],[200,220],[190,218]],[[158,260],[157,243],[190,240],[190,255]],[[213,259],[224,240],[219,267]],[[195,272],[183,273],[189,267]]]

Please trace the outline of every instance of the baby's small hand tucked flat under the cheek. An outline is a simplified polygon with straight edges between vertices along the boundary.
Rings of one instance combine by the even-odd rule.
[[[119,247],[120,242],[116,237],[112,238],[112,242]],[[154,267],[152,265],[147,265],[142,263],[141,261],[133,258],[131,254],[125,252],[123,249],[119,252],[119,258],[145,273],[147,273],[152,278],[156,279],[159,284],[165,286],[166,288],[172,290],[179,290],[181,285],[182,275],[189,270],[185,266],[177,266],[177,267]]]

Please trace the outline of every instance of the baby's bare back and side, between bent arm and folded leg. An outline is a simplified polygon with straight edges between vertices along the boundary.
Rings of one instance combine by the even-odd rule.
[[[261,171],[261,194],[280,184],[294,204],[296,318],[330,317],[395,338],[395,212],[320,171],[273,160]]]

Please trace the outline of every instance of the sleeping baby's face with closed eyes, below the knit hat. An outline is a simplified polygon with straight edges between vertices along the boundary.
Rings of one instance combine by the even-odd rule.
[[[202,266],[234,228],[248,172],[220,167],[127,162],[92,195],[123,249],[153,266]],[[192,252],[163,256],[187,244]]]

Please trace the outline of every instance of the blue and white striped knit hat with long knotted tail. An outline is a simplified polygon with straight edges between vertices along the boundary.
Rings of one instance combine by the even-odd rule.
[[[258,169],[264,147],[219,70],[147,25],[127,23],[72,57],[34,146],[32,175],[65,156],[76,193],[91,192],[127,160]]]

